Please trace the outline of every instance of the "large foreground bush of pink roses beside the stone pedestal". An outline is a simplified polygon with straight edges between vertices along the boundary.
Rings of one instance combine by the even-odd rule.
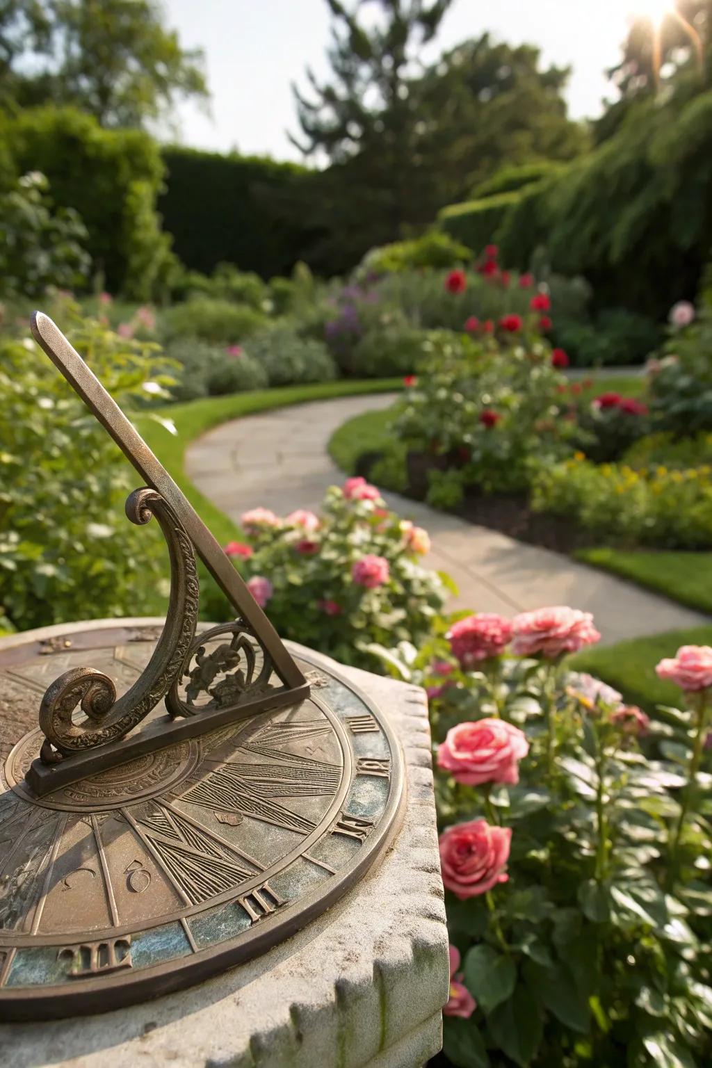
[[[512,631],[527,659],[507,657]],[[712,1056],[710,690],[651,721],[567,670],[567,645],[595,638],[585,613],[542,610],[466,618],[449,642],[387,655],[428,688],[440,743],[444,1051],[458,1068]],[[686,655],[690,689],[710,681],[708,655]]]

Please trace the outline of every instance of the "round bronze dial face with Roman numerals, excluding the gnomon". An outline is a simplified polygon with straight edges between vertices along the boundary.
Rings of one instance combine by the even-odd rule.
[[[4,1019],[114,1008],[252,957],[358,882],[397,828],[398,744],[316,654],[295,654],[306,700],[33,796],[47,684],[89,665],[121,694],[156,631],[117,622],[67,641],[0,650]]]

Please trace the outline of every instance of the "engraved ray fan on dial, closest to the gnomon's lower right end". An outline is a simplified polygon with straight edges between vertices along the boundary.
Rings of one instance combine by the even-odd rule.
[[[240,748],[243,752],[271,758],[271,763],[228,760],[189,790],[185,800],[310,834],[316,827],[313,820],[271,799],[329,797],[335,792],[341,781],[337,765],[290,753],[283,748],[318,739],[329,733],[329,724],[322,720],[267,724]]]

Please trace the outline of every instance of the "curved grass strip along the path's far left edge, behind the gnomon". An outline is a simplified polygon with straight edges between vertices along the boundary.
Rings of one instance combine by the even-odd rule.
[[[240,532],[235,523],[208,501],[187,477],[184,457],[191,441],[230,419],[240,419],[270,408],[282,408],[307,400],[328,400],[330,397],[352,396],[359,393],[384,393],[401,388],[400,378],[384,378],[289,386],[275,390],[257,390],[253,393],[235,393],[224,397],[206,397],[204,400],[191,400],[188,404],[161,408],[155,413],[161,420],[171,420],[175,425],[175,434],[171,434],[156,419],[147,415],[139,417],[136,422],[149,449],[177,482],[217,539],[224,545],[239,536]]]

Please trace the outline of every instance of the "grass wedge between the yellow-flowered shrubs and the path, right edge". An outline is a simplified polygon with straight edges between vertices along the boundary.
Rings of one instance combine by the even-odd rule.
[[[712,552],[582,549],[577,560],[712,615]]]

